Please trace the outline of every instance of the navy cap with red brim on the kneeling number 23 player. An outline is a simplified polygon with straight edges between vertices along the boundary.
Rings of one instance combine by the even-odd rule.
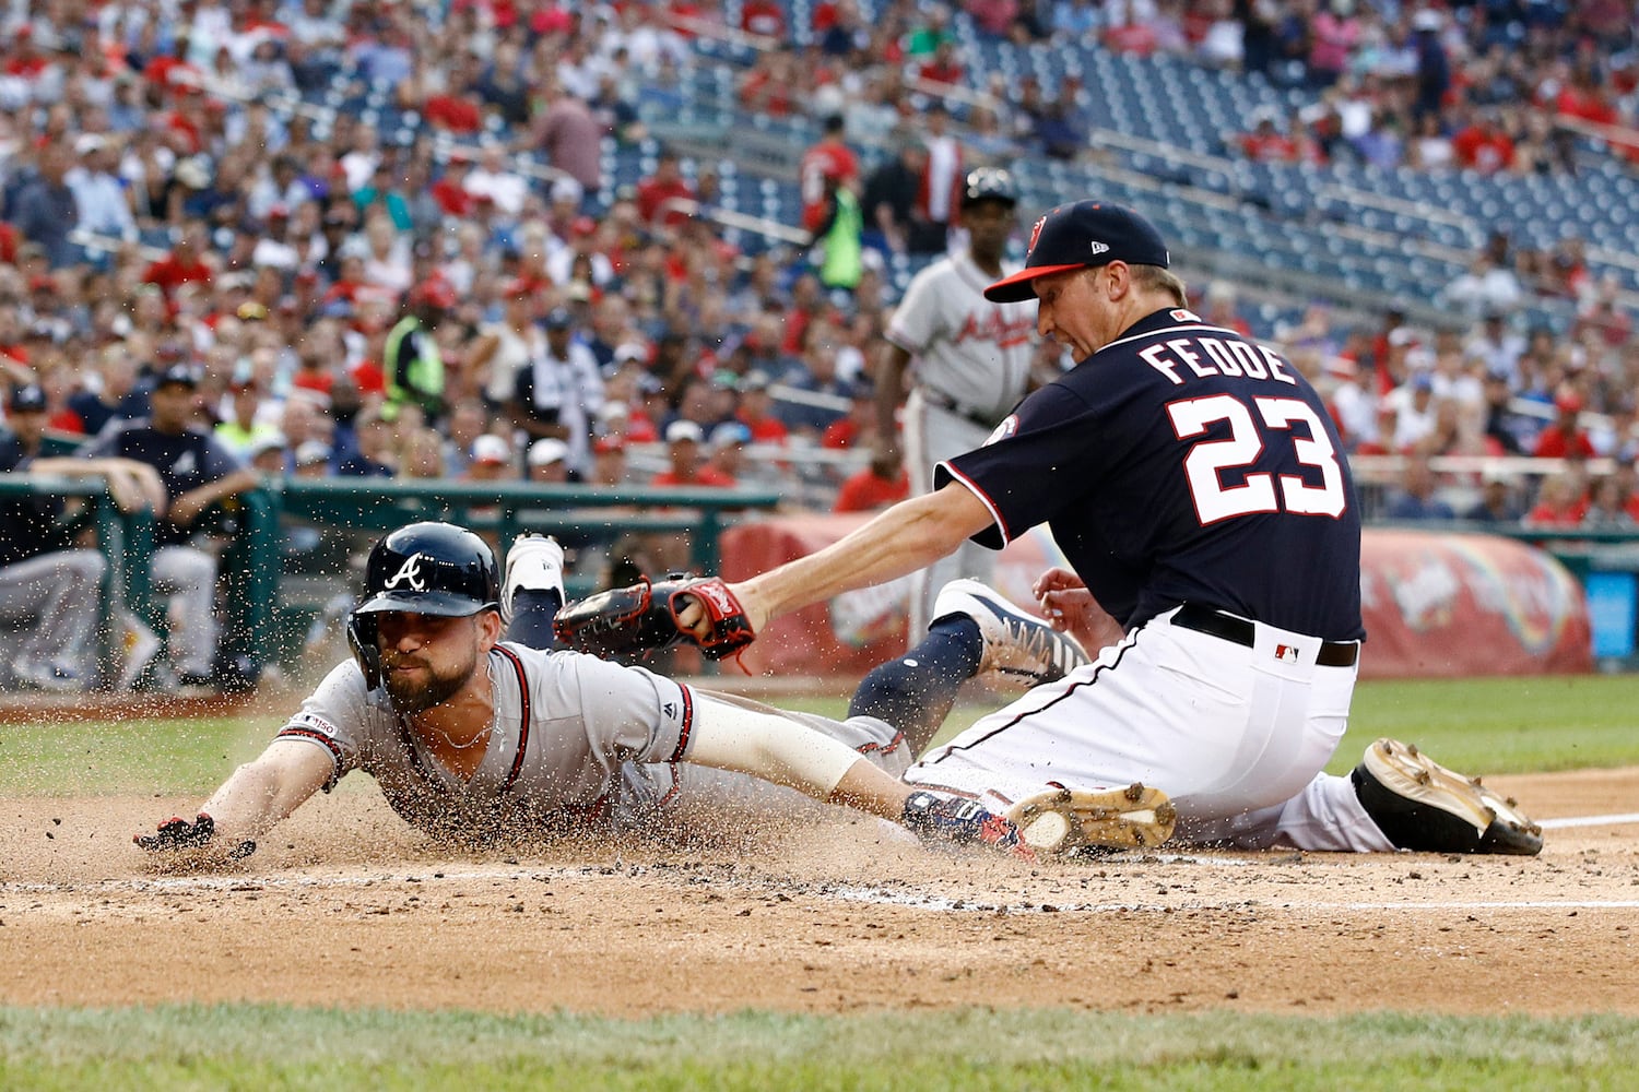
[[[1060,205],[1031,228],[1024,268],[985,288],[985,300],[1033,300],[1036,288],[1031,282],[1037,277],[1110,262],[1162,268],[1172,265],[1160,232],[1131,208],[1110,201]]]

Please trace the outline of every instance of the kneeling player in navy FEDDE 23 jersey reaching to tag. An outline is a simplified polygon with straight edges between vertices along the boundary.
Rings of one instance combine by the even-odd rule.
[[[1036,221],[1024,270],[985,296],[1034,295],[1037,331],[1080,363],[942,462],[934,493],[724,586],[729,609],[756,630],[967,539],[1000,548],[1047,524],[1074,571],[1049,571],[1036,594],[1096,661],[1044,676],[923,755],[908,783],[988,812],[1044,786],[1142,783],[1172,797],[1193,840],[1536,853],[1529,820],[1414,748],[1382,740],[1351,778],[1319,773],[1364,639],[1354,485],[1314,390],[1185,309],[1169,265],[1131,210],[1080,201]],[[974,673],[987,607],[990,627],[1006,612],[972,581],[946,591],[957,611],[936,611],[923,645],[877,668],[856,711],[893,694],[947,707]],[[710,639],[713,612],[690,604],[679,624]]]

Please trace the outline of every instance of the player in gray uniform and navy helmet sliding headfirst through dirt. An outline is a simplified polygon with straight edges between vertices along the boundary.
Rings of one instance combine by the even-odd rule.
[[[716,771],[729,771],[928,838],[1031,853],[1000,815],[908,809],[910,792],[893,776],[910,765],[908,747],[877,717],[787,714],[642,668],[538,650],[551,643],[564,601],[562,557],[551,539],[520,539],[502,594],[495,555],[470,530],[423,522],[384,537],[347,622],[354,660],[326,676],[195,820],[170,819],[138,845],[207,863],[244,856],[352,769],[375,778],[411,825],[467,837],[641,824],[680,796],[708,794],[723,784]],[[738,787],[756,784],[739,778]],[[1031,819],[1064,819],[1060,810],[1082,804],[1067,797],[1034,802]],[[1067,820],[1051,825],[1064,830]]]

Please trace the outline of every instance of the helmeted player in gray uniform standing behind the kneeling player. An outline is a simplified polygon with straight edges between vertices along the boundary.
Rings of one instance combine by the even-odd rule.
[[[985,285],[1018,268],[1003,262],[1016,206],[1006,170],[980,167],[967,175],[960,213],[967,249],[911,278],[877,355],[877,462],[897,468],[903,460],[913,493],[928,491],[942,460],[983,444],[1029,386],[1033,308],[983,295]],[[901,398],[903,452],[895,422]],[[913,573],[911,643],[933,619],[934,593],[957,576],[988,581],[993,558],[978,544],[962,544]]]

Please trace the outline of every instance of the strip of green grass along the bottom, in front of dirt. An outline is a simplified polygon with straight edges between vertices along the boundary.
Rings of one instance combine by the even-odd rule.
[[[1621,1089],[1639,1022],[0,1009],[8,1089]]]

